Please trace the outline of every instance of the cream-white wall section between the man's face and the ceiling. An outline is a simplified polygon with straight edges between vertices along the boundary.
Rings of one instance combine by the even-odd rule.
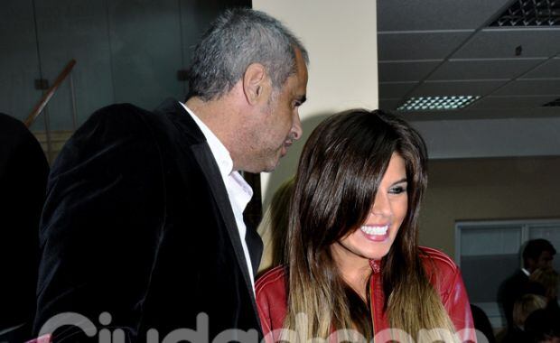
[[[374,0],[253,0],[296,36],[310,56],[303,138],[275,172],[262,174],[266,204],[296,169],[303,142],[322,118],[352,107],[378,107],[377,8]]]

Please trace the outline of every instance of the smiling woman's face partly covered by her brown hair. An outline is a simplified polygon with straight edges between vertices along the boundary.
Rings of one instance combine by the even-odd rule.
[[[387,255],[406,217],[406,185],[405,160],[393,153],[365,223],[331,246],[339,264],[359,266]]]

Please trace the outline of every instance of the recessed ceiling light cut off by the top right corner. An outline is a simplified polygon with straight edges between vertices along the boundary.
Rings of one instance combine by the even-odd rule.
[[[560,2],[556,0],[518,0],[513,2],[490,26],[560,25]]]

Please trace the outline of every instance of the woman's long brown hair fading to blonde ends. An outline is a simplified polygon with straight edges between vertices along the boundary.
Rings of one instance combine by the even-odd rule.
[[[397,116],[351,110],[317,126],[303,147],[295,178],[285,329],[296,330],[301,341],[328,338],[332,329],[357,329],[365,338],[372,336],[368,305],[342,280],[330,246],[364,223],[393,153],[406,162],[408,211],[382,261],[384,311],[392,328],[413,337],[420,329],[453,330],[417,244],[427,183],[425,143]],[[298,322],[298,313],[306,315],[306,323]]]

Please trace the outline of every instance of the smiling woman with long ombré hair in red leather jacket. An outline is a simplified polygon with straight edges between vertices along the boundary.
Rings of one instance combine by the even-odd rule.
[[[457,341],[460,330],[461,340],[476,341],[462,330],[472,319],[461,273],[448,256],[417,245],[426,162],[420,135],[381,111],[354,110],[317,126],[295,178],[288,264],[256,286],[268,341],[342,330],[375,335],[376,343],[426,333]]]

